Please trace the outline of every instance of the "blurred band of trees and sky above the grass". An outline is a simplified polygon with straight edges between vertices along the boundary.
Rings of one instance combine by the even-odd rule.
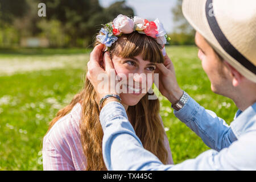
[[[45,3],[46,16],[39,16]],[[181,13],[181,1],[16,0],[0,1],[0,46],[90,47],[101,24],[118,14],[159,18],[172,37],[172,45],[193,44],[193,30]]]

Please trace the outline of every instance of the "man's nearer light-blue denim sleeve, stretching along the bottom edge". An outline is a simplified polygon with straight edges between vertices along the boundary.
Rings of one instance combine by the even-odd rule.
[[[195,116],[198,112],[202,114],[198,108],[191,110],[192,114],[188,115]],[[192,123],[189,118],[184,119]],[[121,104],[106,104],[101,110],[100,121],[104,130],[103,158],[109,170],[255,170],[255,132],[241,136],[240,140],[236,140],[220,152],[208,150],[195,159],[185,160],[176,165],[164,165],[154,154],[143,148]]]

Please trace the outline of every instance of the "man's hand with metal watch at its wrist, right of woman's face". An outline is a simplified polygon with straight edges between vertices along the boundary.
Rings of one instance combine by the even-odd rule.
[[[164,56],[164,63],[156,64],[157,68],[155,73],[159,73],[159,91],[166,97],[172,104],[179,101],[183,95],[183,90],[177,84],[174,65],[167,56]],[[158,86],[158,85],[156,85]]]

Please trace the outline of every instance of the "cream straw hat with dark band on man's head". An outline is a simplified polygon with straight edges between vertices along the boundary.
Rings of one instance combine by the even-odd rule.
[[[255,0],[183,0],[182,10],[214,50],[256,82]]]

